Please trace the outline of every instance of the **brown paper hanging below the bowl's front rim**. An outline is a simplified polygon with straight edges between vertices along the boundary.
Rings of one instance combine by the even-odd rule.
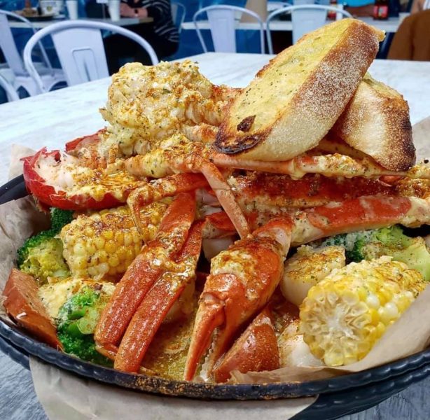
[[[30,368],[34,389],[50,420],[287,420],[317,399],[208,402],[137,393],[99,384],[35,358],[30,358]]]

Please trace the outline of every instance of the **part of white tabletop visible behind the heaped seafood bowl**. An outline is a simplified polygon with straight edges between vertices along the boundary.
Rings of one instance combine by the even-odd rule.
[[[190,57],[214,83],[244,86],[269,55],[207,54]],[[430,116],[430,62],[375,60],[370,73],[401,92],[412,124]],[[11,144],[60,148],[66,141],[104,126],[98,109],[106,102],[109,78],[0,105],[0,183],[7,179]]]

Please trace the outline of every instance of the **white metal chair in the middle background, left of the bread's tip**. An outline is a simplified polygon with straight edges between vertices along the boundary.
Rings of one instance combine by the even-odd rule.
[[[211,29],[212,41],[214,42],[215,52],[236,52],[236,24],[239,22],[243,13],[254,18],[260,26],[260,47],[261,53],[264,54],[264,24],[260,15],[248,10],[247,8],[237,6],[208,6],[197,10],[193,16],[193,22],[197,36],[200,39],[204,52],[207,52],[207,46],[204,42],[202,32],[199,27],[199,18],[202,14],[207,14],[207,20]],[[238,18],[238,19],[237,19]]]

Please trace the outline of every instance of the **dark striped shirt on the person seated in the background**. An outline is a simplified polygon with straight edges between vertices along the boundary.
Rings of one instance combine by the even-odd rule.
[[[126,0],[131,8],[144,7],[154,20],[155,34],[170,42],[179,42],[179,32],[172,20],[170,0]]]

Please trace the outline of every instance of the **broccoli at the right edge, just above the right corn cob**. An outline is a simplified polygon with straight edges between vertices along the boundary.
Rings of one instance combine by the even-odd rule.
[[[411,238],[400,226],[336,235],[325,239],[321,245],[339,244],[345,248],[347,260],[359,262],[389,255],[393,260],[405,262],[416,269],[424,280],[430,281],[430,253],[424,239]]]

